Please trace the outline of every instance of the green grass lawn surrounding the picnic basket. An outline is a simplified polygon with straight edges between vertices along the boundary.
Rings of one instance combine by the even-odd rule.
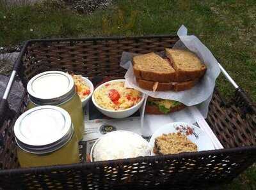
[[[35,6],[0,6],[0,24],[0,46],[31,38],[175,34],[184,24],[256,101],[255,0],[115,1],[107,10],[92,15],[79,15],[49,1]],[[234,93],[222,76],[218,88],[226,97]],[[227,188],[255,189],[255,170],[250,168]]]

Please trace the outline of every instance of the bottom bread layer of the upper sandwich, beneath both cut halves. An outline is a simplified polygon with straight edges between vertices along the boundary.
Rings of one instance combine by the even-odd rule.
[[[196,85],[199,78],[185,82],[154,82],[136,78],[138,85],[148,91],[185,91]],[[156,87],[156,83],[157,87]]]

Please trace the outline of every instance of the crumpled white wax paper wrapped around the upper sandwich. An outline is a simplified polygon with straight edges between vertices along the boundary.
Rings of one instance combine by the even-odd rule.
[[[186,27],[181,26],[179,31],[177,32],[180,40],[175,43],[173,48],[185,48],[190,50],[191,52],[194,52],[207,66],[207,71],[204,77],[192,89],[180,92],[153,92],[141,89],[136,82],[136,78],[134,77],[131,64],[132,57],[134,57],[134,55],[136,54],[124,52],[121,57],[120,66],[128,69],[125,73],[126,87],[137,89],[138,91],[141,91],[148,96],[152,96],[154,98],[173,99],[187,106],[197,105],[199,111],[202,113],[204,118],[206,118],[208,113],[208,106],[212,98],[212,92],[214,91],[215,87],[215,81],[220,74],[220,68],[218,66],[218,61],[212,55],[211,51],[207,47],[205,47],[205,45],[198,38],[196,38],[196,36],[188,36],[187,33],[188,30],[186,29]],[[163,52],[160,52],[160,54],[163,54]]]

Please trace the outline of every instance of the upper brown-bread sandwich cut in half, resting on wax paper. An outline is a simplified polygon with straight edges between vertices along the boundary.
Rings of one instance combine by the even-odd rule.
[[[138,85],[149,91],[185,91],[202,78],[206,66],[188,50],[166,48],[163,59],[155,53],[133,58],[133,71]]]

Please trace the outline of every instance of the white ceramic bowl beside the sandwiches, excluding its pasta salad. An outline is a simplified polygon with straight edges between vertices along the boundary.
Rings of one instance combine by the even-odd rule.
[[[111,80],[111,81],[105,82],[104,84],[99,85],[99,87],[97,87],[94,92],[97,92],[97,90],[99,90],[100,87],[102,87],[102,85],[106,85],[106,84],[108,84],[110,82],[125,82],[125,80],[124,79],[117,79],[117,80]],[[125,110],[107,110],[107,109],[102,108],[99,105],[97,105],[97,103],[96,103],[96,101],[94,99],[94,92],[93,92],[93,96],[92,96],[92,102],[96,106],[96,108],[101,113],[103,113],[104,115],[107,115],[108,117],[116,118],[116,119],[129,117],[133,113],[137,112],[138,109],[140,108],[140,106],[143,104],[143,101],[145,99],[145,94],[143,94],[141,92],[141,100],[140,100],[140,102],[137,103],[136,105],[132,106],[131,108],[127,108]]]

